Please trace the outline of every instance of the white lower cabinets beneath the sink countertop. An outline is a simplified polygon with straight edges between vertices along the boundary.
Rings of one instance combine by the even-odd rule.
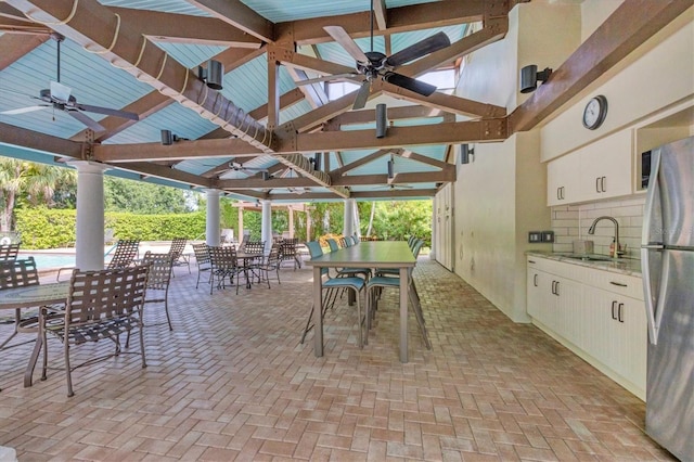
[[[645,400],[647,328],[641,280],[528,256],[532,322]],[[614,288],[613,288],[614,287]]]

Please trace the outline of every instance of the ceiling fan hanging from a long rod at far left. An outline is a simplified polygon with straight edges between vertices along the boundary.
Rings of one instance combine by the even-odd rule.
[[[105,131],[105,128],[97,120],[92,119],[83,112],[105,114],[115,117],[129,118],[131,120],[139,120],[140,116],[136,113],[127,111],[112,110],[108,107],[93,106],[90,104],[78,103],[77,99],[72,95],[72,89],[61,84],[61,42],[65,39],[62,35],[53,33],[51,38],[57,42],[57,79],[51,81],[48,89],[43,89],[39,92],[38,97],[29,97],[35,100],[40,100],[41,103],[34,106],[21,107],[17,110],[4,111],[0,114],[15,115],[25,114],[34,111],[40,111],[44,108],[53,108],[67,113],[69,116],[85,124],[87,127],[94,131]]]

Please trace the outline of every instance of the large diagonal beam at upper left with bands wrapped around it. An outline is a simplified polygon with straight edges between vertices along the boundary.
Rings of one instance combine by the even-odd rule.
[[[98,1],[81,0],[74,3],[74,9],[73,4],[51,0],[5,1],[34,21],[51,23],[55,31],[98,51],[104,60],[196,111],[201,117],[227,128],[256,147],[271,151],[272,133],[269,130],[250,119],[220,92],[209,90],[195,73],[176,60],[167,60],[168,54],[164,50],[146,47],[146,39],[137,29],[121,24],[118,16]],[[70,21],[64,24],[69,15]]]

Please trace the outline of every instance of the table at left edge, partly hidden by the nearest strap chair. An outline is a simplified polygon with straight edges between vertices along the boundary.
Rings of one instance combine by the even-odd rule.
[[[53,284],[29,285],[26,287],[8,288],[0,291],[0,310],[41,307],[44,305],[64,304],[67,301],[69,282],[57,282]],[[37,335],[31,357],[24,372],[24,386],[31,386],[31,377],[36,361],[43,346],[43,339]]]

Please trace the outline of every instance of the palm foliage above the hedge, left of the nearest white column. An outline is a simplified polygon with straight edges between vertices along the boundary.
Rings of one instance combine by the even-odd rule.
[[[51,206],[56,185],[74,181],[75,172],[66,168],[0,157],[0,231],[12,230],[17,201]]]

